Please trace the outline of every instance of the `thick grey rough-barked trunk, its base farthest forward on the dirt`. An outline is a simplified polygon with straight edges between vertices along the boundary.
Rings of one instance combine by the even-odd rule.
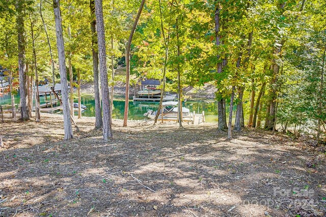
[[[97,41],[99,54],[99,71],[101,78],[102,104],[103,104],[103,138],[112,138],[111,112],[110,112],[110,91],[108,89],[107,70],[106,70],[106,48],[105,30],[103,21],[102,0],[95,0],[95,14],[97,23]]]

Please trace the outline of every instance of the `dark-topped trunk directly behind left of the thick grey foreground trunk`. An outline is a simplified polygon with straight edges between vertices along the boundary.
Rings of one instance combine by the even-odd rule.
[[[98,72],[98,52],[97,52],[97,34],[96,34],[96,17],[95,3],[90,0],[91,10],[91,30],[92,30],[92,55],[93,55],[93,75],[94,75],[94,100],[95,100],[95,130],[103,127],[101,98],[99,89],[99,72]]]

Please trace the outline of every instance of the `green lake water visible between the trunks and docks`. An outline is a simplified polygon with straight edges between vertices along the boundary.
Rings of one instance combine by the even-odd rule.
[[[49,97],[48,97],[49,99]],[[44,103],[44,97],[40,97],[40,103]],[[19,103],[19,96],[15,96],[15,102]],[[78,102],[77,99],[74,102]],[[0,105],[11,104],[10,94],[5,94],[3,97],[0,97]],[[95,116],[95,101],[94,97],[91,94],[82,95],[82,104],[87,106],[87,109],[83,112],[82,116],[94,117]],[[124,98],[116,98],[113,101],[113,118],[123,119],[124,114]],[[207,122],[217,122],[218,121],[218,103],[217,102],[204,102],[204,101],[187,101],[183,103],[185,108],[188,108],[191,112],[195,111],[196,113],[201,113],[205,111],[205,119]],[[144,113],[148,109],[156,111],[158,108],[158,103],[153,102],[140,102],[134,103],[129,101],[129,111],[128,119],[130,120],[144,120],[147,117],[144,117]]]

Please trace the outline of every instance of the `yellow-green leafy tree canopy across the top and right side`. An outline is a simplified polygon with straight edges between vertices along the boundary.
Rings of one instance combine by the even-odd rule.
[[[292,126],[294,134],[324,138],[325,6],[324,0],[146,0],[132,36],[130,73],[135,82],[166,81],[164,91],[178,92],[180,101],[187,97],[182,88],[213,84],[221,102],[220,119],[226,119],[222,115],[226,105],[236,106],[236,130],[245,125],[276,130],[280,125],[286,132]],[[125,56],[128,37],[139,7],[135,0],[103,2],[109,86],[114,85],[109,69],[125,65],[129,58]],[[71,65],[73,78],[80,70],[82,80],[93,81],[92,48],[98,48],[92,41],[90,2],[62,0],[60,9],[67,66]],[[59,82],[52,3],[44,1],[40,7],[39,0],[2,1],[0,12],[0,65],[17,80],[23,45],[26,65],[37,61],[39,80],[52,80],[48,35]],[[26,69],[26,75],[34,75],[33,67]]]

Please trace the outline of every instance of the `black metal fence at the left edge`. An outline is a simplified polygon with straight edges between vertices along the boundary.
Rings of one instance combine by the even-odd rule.
[[[0,106],[0,123],[22,122],[21,107]]]

